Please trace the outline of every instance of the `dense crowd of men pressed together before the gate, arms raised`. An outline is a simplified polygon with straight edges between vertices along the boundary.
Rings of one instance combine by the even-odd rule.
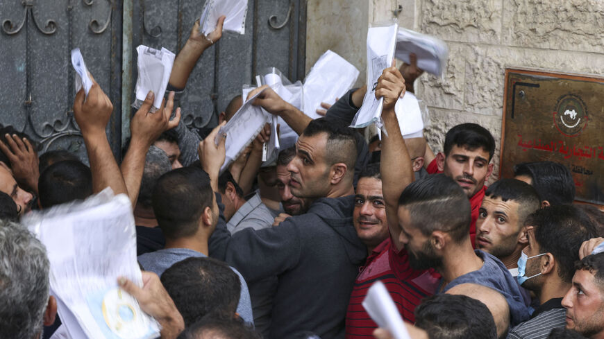
[[[219,21],[219,24],[221,21]],[[162,107],[131,119],[117,164],[113,106],[94,82],[74,101],[90,166],[65,150],[38,157],[28,136],[0,132],[0,338],[69,338],[49,295],[44,246],[19,218],[110,187],[131,199],[143,286],[120,278],[161,325],[161,338],[392,338],[362,306],[383,281],[411,338],[604,338],[604,215],[573,205],[569,169],[517,164],[487,187],[495,140],[476,123],[446,132],[436,155],[404,139],[396,101],[416,62],[383,71],[380,140],[348,128],[366,88],[310,119],[270,88],[253,105],[299,134],[262,164],[265,126],[221,173],[219,128],[189,130],[178,96],[221,37],[192,29]],[[402,121],[404,123],[404,121]],[[219,140],[217,144],[215,140]]]

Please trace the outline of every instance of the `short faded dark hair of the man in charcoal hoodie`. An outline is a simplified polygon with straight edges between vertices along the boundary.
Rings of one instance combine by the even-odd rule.
[[[357,140],[352,128],[342,127],[333,120],[319,118],[310,121],[302,133],[305,137],[314,137],[317,134],[327,134],[325,161],[327,166],[344,163],[348,167],[347,173],[354,175],[355,162],[357,161]]]

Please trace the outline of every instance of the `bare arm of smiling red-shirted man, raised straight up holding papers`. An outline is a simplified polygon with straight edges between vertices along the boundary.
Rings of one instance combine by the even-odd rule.
[[[378,80],[376,97],[384,98],[382,119],[386,133],[382,134],[382,155],[380,173],[382,174],[382,193],[386,200],[386,216],[392,243],[397,250],[403,245],[399,242],[399,197],[403,189],[413,181],[414,173],[411,159],[401,135],[399,120],[396,119],[394,105],[405,92],[405,80],[396,67],[384,70]],[[387,134],[387,135],[386,135]]]

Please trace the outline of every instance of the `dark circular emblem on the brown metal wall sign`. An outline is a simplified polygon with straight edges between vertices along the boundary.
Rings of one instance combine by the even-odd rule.
[[[558,98],[553,119],[558,131],[567,137],[576,137],[581,134],[589,121],[585,103],[580,97],[573,94]]]

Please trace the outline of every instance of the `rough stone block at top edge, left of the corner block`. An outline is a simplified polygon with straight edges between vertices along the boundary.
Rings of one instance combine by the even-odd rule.
[[[501,42],[500,0],[427,0],[422,2],[421,31],[455,42]]]

